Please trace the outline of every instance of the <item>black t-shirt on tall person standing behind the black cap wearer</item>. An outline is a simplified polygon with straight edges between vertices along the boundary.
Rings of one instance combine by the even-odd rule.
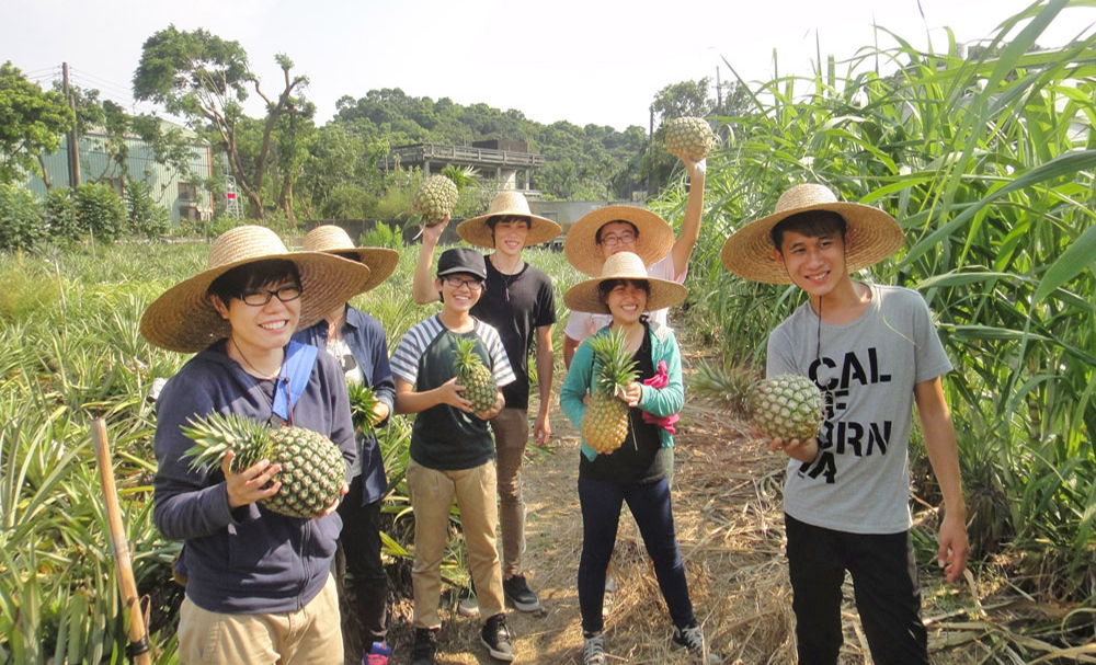
[[[487,290],[472,308],[472,316],[499,331],[510,366],[517,380],[502,388],[506,406],[529,405],[529,348],[541,325],[556,323],[556,297],[551,279],[525,264],[516,275],[503,275],[487,256]]]

